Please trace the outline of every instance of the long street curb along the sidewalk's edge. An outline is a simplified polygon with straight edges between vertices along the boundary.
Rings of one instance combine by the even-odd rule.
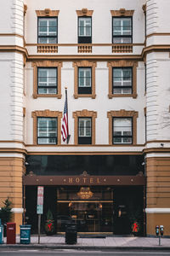
[[[170,247],[162,247],[162,246],[156,246],[156,247],[96,247],[96,246],[76,246],[76,245],[56,245],[56,244],[30,244],[30,245],[26,245],[26,244],[15,244],[15,245],[4,245],[4,244],[0,244],[0,251],[1,249],[72,249],[72,250],[80,250],[80,251],[170,251]]]

